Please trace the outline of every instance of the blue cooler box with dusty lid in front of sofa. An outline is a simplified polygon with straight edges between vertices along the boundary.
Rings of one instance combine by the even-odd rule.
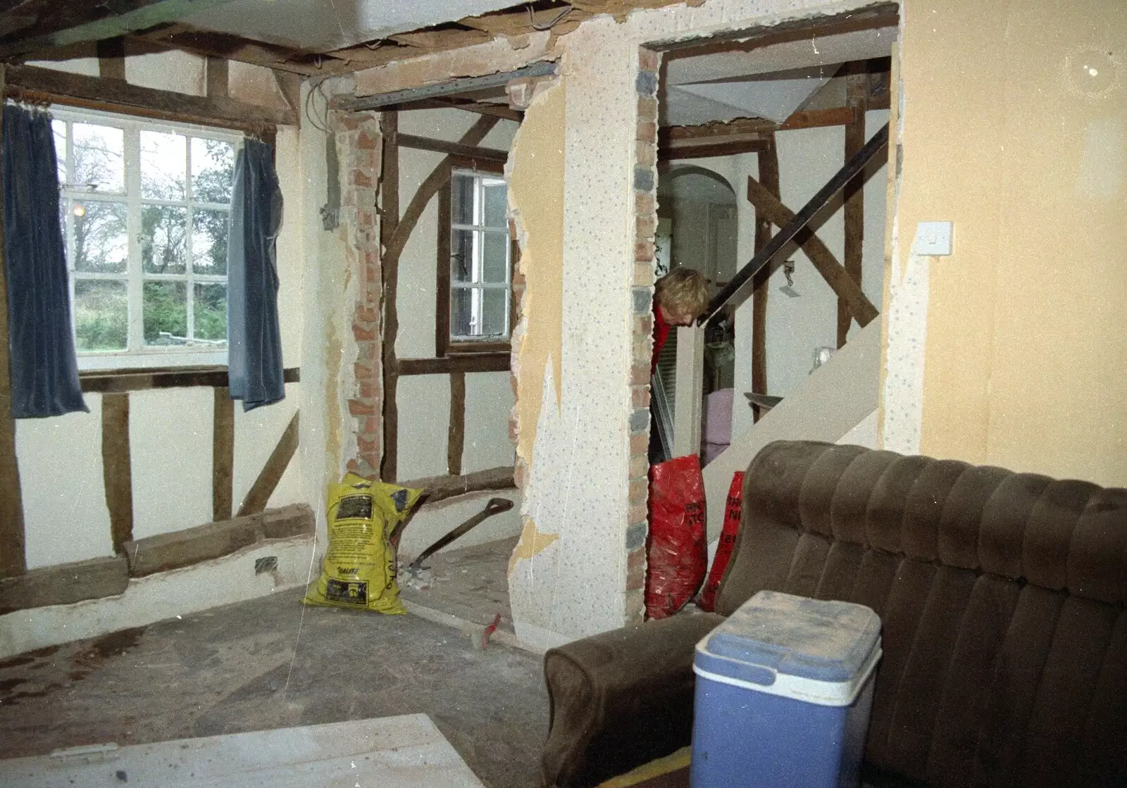
[[[693,788],[857,786],[879,658],[869,608],[755,594],[696,644]]]

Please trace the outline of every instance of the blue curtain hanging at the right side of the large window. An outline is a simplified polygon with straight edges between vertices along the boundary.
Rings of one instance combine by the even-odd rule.
[[[285,398],[275,259],[281,227],[274,148],[247,140],[234,160],[227,251],[228,375],[243,410]]]

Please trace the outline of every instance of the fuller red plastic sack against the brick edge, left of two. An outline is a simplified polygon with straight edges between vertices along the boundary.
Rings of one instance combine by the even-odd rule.
[[[708,568],[704,479],[700,458],[678,457],[649,469],[646,614],[673,616],[693,597]]]

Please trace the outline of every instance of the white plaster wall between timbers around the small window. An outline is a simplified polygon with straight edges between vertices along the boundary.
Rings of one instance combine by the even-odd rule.
[[[399,115],[399,131],[456,141],[478,117],[480,116],[458,109],[403,112]],[[508,150],[516,129],[515,122],[500,121],[481,141],[481,147]],[[407,209],[419,184],[443,157],[442,153],[400,148],[400,211]],[[400,358],[433,358],[435,355],[437,202],[435,198],[427,205],[399,258],[399,335],[396,339],[396,354]],[[400,378],[397,404],[399,478],[417,479],[445,473],[450,377],[437,374]],[[513,390],[508,372],[465,375],[463,472],[512,464],[513,446],[508,440],[508,414],[512,407]],[[514,517],[513,523],[515,522]]]

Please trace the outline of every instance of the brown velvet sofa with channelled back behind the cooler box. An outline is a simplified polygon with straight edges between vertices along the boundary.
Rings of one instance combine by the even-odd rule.
[[[719,616],[548,652],[544,783],[689,744],[693,646],[762,588],[880,616],[868,782],[1127,786],[1127,489],[808,442],[748,468]]]

